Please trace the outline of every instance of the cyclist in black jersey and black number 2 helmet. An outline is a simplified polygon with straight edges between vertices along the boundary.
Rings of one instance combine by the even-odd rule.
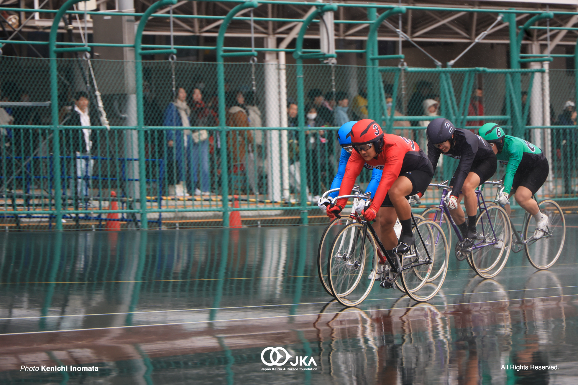
[[[496,172],[498,166],[496,155],[486,140],[470,130],[455,128],[446,118],[437,118],[429,122],[426,134],[428,158],[434,171],[440,154],[460,159],[450,181],[452,190],[446,197],[446,204],[464,238],[477,239],[477,197],[474,191]],[[467,224],[464,210],[460,205],[462,197],[468,213]]]

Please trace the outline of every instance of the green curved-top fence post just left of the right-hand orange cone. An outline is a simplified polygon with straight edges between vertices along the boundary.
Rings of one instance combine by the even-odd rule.
[[[223,196],[223,226],[229,227],[229,164],[227,162],[227,114],[225,112],[225,65],[223,62],[223,44],[225,32],[231,19],[246,8],[257,8],[259,3],[247,1],[231,9],[223,19],[223,24],[217,36],[217,88],[218,88],[218,120],[221,129],[221,195]]]

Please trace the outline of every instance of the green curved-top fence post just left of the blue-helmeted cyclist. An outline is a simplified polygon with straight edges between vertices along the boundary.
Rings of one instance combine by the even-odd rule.
[[[297,66],[297,118],[299,122],[299,174],[301,177],[301,223],[307,225],[309,218],[309,208],[307,207],[307,147],[305,145],[305,89],[303,85],[303,37],[307,27],[317,16],[323,15],[325,12],[335,12],[337,6],[334,4],[315,4],[317,9],[303,20],[297,40],[295,40],[295,52],[293,57],[296,59]]]

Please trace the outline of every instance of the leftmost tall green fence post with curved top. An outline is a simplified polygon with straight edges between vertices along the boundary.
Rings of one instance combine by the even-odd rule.
[[[82,0],[68,0],[54,15],[50,35],[48,38],[48,50],[50,58],[50,115],[52,121],[52,156],[54,158],[54,209],[56,211],[56,230],[62,230],[62,181],[60,175],[60,126],[58,126],[58,69],[56,65],[56,37],[58,24],[62,16],[76,3]]]

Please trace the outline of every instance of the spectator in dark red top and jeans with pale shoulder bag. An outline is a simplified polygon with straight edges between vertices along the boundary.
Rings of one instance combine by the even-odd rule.
[[[217,114],[205,106],[201,89],[192,90],[191,123],[195,127],[217,125]],[[195,195],[210,195],[209,132],[206,129],[191,131],[187,137],[187,190]],[[197,188],[197,180],[201,189]]]

